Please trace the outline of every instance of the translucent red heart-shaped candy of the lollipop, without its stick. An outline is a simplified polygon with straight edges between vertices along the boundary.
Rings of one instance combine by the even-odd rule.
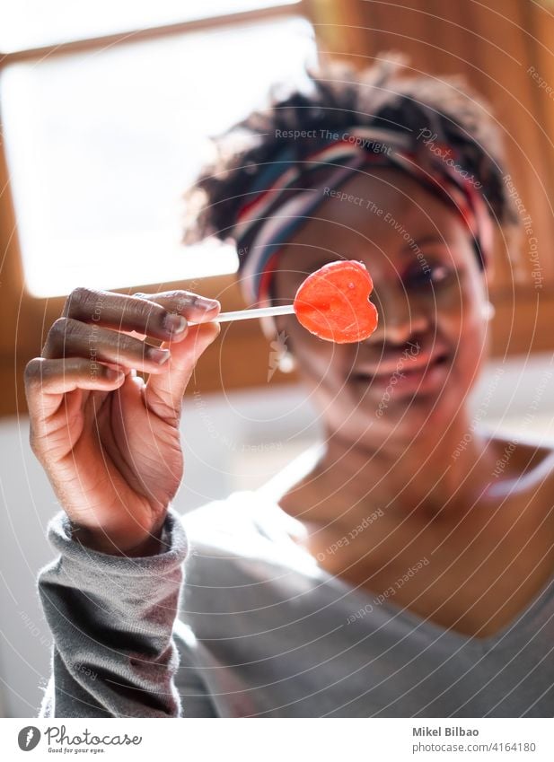
[[[362,262],[330,262],[309,275],[296,292],[296,318],[327,341],[363,341],[377,328],[377,310],[368,301],[373,289],[374,282]]]

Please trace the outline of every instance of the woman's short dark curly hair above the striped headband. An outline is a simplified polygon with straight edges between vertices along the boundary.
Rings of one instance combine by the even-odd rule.
[[[233,240],[237,215],[260,167],[272,162],[284,145],[292,146],[294,158],[302,162],[325,145],[317,137],[321,131],[339,132],[353,125],[409,135],[414,153],[423,150],[420,136],[428,130],[437,143],[456,151],[497,224],[518,223],[503,182],[502,143],[488,103],[462,76],[406,76],[406,67],[404,57],[388,53],[362,71],[339,63],[308,71],[307,92],[296,88],[279,98],[282,85],[274,87],[267,109],[254,111],[214,139],[215,161],[185,194],[184,242],[210,236]],[[291,141],[292,134],[300,137]]]

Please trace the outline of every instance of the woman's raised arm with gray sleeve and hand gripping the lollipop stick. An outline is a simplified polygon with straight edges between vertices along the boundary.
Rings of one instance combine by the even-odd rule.
[[[168,510],[183,394],[220,306],[76,288],[27,363],[31,449],[63,508],[48,527],[60,556],[38,581],[55,641],[42,716],[180,715],[172,626],[186,539]]]

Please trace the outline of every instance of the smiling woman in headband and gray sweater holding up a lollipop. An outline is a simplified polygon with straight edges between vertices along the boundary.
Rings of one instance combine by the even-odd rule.
[[[517,444],[495,474],[507,442],[467,403],[494,224],[514,222],[494,125],[458,80],[391,62],[311,84],[233,130],[239,151],[222,142],[188,240],[232,238],[258,304],[362,261],[378,328],[337,345],[266,321],[324,440],[180,517],[181,399],[219,303],[70,295],[27,369],[64,509],[39,577],[55,639],[41,716],[554,713],[554,453]]]

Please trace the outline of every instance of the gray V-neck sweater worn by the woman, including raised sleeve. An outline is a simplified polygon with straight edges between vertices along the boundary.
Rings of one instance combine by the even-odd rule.
[[[554,581],[479,640],[325,573],[299,530],[268,491],[235,492],[171,508],[163,552],[125,558],[81,546],[57,513],[40,716],[554,715]]]

